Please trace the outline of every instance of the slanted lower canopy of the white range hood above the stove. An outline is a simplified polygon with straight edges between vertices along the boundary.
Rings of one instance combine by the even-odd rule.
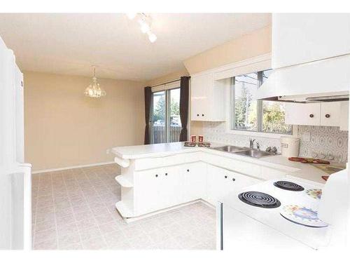
[[[349,100],[350,55],[275,69],[258,99],[287,102]]]

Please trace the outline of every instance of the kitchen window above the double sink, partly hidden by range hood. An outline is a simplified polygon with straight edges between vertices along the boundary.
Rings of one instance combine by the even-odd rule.
[[[272,70],[232,78],[232,129],[260,133],[291,134],[292,126],[284,123],[284,102],[256,99],[258,88]]]

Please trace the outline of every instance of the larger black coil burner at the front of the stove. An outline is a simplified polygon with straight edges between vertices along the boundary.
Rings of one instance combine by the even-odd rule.
[[[246,191],[238,195],[239,200],[248,205],[258,206],[259,208],[278,208],[281,202],[260,191]]]

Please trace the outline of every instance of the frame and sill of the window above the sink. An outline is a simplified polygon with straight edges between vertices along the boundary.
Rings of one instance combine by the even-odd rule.
[[[257,73],[258,74],[258,88],[262,85],[263,81],[263,73],[264,71],[269,70],[269,69],[263,69],[260,70],[259,72],[250,72],[250,73],[244,73],[244,74],[251,74],[251,73]],[[240,74],[237,76],[241,76],[244,74]],[[263,118],[263,100],[257,100],[257,116],[256,116],[256,121],[257,121],[257,130],[242,130],[242,129],[237,129],[235,128],[235,77],[232,76],[230,78],[230,120],[229,120],[229,125],[228,125],[228,132],[233,133],[233,134],[239,134],[239,135],[250,135],[250,136],[259,136],[259,137],[272,137],[272,138],[279,138],[281,136],[287,136],[287,137],[293,137],[293,135],[296,134],[296,127],[292,125],[291,127],[291,133],[276,133],[276,132],[265,132],[262,130],[263,128],[263,123],[262,123],[262,118]]]

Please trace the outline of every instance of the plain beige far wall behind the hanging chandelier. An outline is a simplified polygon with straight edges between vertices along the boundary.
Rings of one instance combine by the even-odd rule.
[[[144,83],[25,72],[25,159],[33,170],[113,161],[106,149],[144,142]]]

